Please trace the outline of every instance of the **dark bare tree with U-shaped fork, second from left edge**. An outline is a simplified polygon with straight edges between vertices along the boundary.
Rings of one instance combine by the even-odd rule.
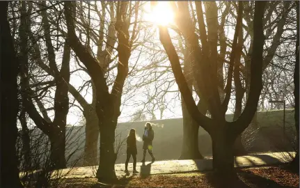
[[[40,9],[47,7],[45,1],[38,5]],[[61,61],[61,69],[58,70],[58,63],[56,62],[56,55],[53,45],[52,31],[47,18],[47,10],[40,11],[42,17],[42,29],[45,34],[45,46],[47,50],[47,58],[49,60],[49,72],[52,72],[53,75],[56,75],[54,83],[56,86],[55,91],[55,100],[54,100],[54,120],[50,120],[47,116],[47,111],[42,106],[42,103],[38,103],[38,107],[42,112],[43,116],[40,116],[40,113],[35,108],[33,103],[33,98],[36,96],[33,95],[33,92],[30,89],[29,83],[29,72],[28,72],[28,54],[29,50],[27,48],[22,48],[22,71],[21,78],[22,83],[26,91],[23,92],[24,100],[23,105],[26,108],[27,113],[30,118],[34,121],[35,125],[42,130],[48,137],[51,142],[51,154],[50,158],[52,160],[54,169],[63,169],[66,167],[65,160],[65,125],[66,118],[69,111],[69,98],[68,98],[68,82],[70,81],[70,47],[64,45],[63,47],[63,58]],[[27,23],[28,24],[28,23]],[[42,63],[40,57],[40,49],[38,43],[33,38],[32,31],[27,28],[24,31],[24,35],[21,36],[26,42],[27,38],[31,39],[33,45],[33,56],[35,57],[35,62]],[[24,44],[25,45],[25,44]],[[26,44],[27,46],[29,43]],[[25,47],[25,46],[24,46]],[[51,85],[50,85],[51,86]]]

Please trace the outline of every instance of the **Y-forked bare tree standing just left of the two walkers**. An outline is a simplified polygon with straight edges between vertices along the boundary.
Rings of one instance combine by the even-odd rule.
[[[132,6],[134,5],[134,8]],[[75,33],[74,27],[74,5],[65,2],[65,17],[68,26],[68,43],[77,54],[79,60],[84,63],[88,74],[95,84],[96,112],[100,128],[100,163],[97,170],[97,178],[100,180],[114,180],[116,173],[114,164],[116,153],[114,151],[114,139],[118,116],[120,116],[121,96],[123,86],[128,75],[128,61],[131,54],[132,42],[136,38],[136,19],[139,3],[118,2],[116,6],[116,31],[118,38],[118,74],[113,83],[111,93],[106,84],[104,70],[97,59],[81,44]],[[129,26],[132,14],[135,13],[135,22],[132,36],[129,37]]]

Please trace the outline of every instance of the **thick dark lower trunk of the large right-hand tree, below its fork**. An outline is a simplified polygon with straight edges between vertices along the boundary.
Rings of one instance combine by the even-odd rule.
[[[234,138],[236,136],[221,127],[212,134],[214,175],[221,183],[220,185],[228,185],[228,187],[236,177],[233,153]]]

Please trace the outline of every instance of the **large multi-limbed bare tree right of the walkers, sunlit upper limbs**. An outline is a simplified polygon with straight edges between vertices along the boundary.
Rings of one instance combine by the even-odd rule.
[[[232,180],[232,174],[234,173],[233,143],[237,136],[246,129],[249,123],[251,123],[257,108],[260,91],[262,89],[262,52],[264,45],[262,17],[264,15],[265,2],[255,2],[250,92],[242,115],[232,123],[225,120],[225,113],[228,109],[228,102],[230,100],[232,73],[235,53],[237,51],[237,37],[239,35],[239,27],[242,23],[242,2],[239,2],[237,25],[235,26],[235,36],[232,42],[230,67],[228,68],[228,78],[225,88],[226,95],[223,102],[220,100],[220,94],[217,88],[216,61],[213,61],[214,58],[210,58],[209,56],[209,54],[214,52],[208,51],[211,47],[209,47],[209,44],[207,43],[202,3],[200,1],[196,2],[196,13],[198,17],[202,47],[199,45],[198,36],[194,33],[195,29],[191,24],[187,3],[178,2],[176,8],[180,10],[176,12],[180,13],[180,15],[178,15],[178,19],[180,21],[177,25],[181,24],[181,26],[178,27],[184,36],[187,37],[188,44],[191,47],[191,54],[195,58],[194,66],[199,72],[199,76],[197,78],[198,88],[202,93],[203,100],[207,102],[212,118],[207,118],[207,116],[200,113],[196,107],[194,99],[187,86],[187,81],[184,79],[184,75],[182,74],[177,52],[175,51],[166,27],[159,26],[160,40],[168,54],[176,82],[180,88],[180,93],[182,93],[182,97],[184,98],[184,102],[187,105],[190,115],[210,134],[210,136],[212,136],[214,172],[219,176],[219,178],[221,178],[221,180],[228,182],[228,180]]]

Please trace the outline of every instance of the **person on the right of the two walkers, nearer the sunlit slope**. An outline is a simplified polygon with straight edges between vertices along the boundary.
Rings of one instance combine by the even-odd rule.
[[[151,123],[147,122],[145,124],[145,130],[144,130],[144,134],[143,134],[143,160],[141,160],[141,162],[145,162],[145,156],[146,156],[146,152],[148,150],[150,156],[152,157],[152,162],[155,162],[155,157],[153,156],[152,153],[152,141],[154,139],[154,131],[152,130],[152,125]]]

